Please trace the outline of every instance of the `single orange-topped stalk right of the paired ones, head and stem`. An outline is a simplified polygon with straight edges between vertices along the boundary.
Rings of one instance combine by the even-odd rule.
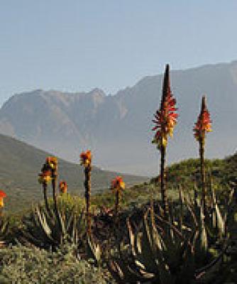
[[[92,219],[90,212],[91,205],[91,175],[92,175],[92,153],[87,150],[80,155],[81,165],[84,166],[84,197],[86,200],[86,218],[87,218],[87,235],[90,236],[92,232]]]

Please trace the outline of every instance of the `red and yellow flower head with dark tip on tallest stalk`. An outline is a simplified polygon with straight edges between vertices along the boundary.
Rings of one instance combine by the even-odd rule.
[[[161,146],[167,145],[167,137],[168,135],[172,137],[177,124],[178,114],[175,113],[177,111],[175,104],[176,100],[172,97],[170,90],[170,67],[166,65],[160,109],[154,114],[155,119],[153,119],[153,122],[155,126],[152,129],[156,131],[153,143],[158,144],[159,149]]]

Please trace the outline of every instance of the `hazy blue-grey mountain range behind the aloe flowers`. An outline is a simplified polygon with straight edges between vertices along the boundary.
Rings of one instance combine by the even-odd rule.
[[[172,70],[172,66],[171,66]],[[213,121],[207,157],[221,158],[236,151],[237,61],[171,71],[172,92],[179,118],[168,146],[168,160],[197,156],[192,127],[201,97]],[[158,170],[158,151],[151,145],[152,119],[160,104],[162,75],[144,77],[133,87],[106,96],[35,90],[11,97],[0,109],[0,133],[77,161],[91,148],[102,168],[151,175]]]

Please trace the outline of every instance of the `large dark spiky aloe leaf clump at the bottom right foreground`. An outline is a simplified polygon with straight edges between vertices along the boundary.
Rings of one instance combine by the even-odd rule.
[[[135,227],[128,220],[129,245],[108,261],[118,283],[214,283],[226,246],[213,261],[197,267],[197,247],[202,227],[182,233],[161,217],[146,212]],[[121,246],[122,248],[122,246]]]

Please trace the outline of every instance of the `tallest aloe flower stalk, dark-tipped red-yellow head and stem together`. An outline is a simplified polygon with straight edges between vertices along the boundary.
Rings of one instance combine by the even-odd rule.
[[[153,131],[155,131],[153,143],[157,144],[157,148],[160,151],[160,191],[162,209],[166,219],[168,209],[167,192],[165,188],[165,154],[168,136],[172,137],[175,124],[177,123],[178,114],[175,113],[175,111],[177,111],[175,104],[176,100],[170,90],[170,66],[166,65],[160,109],[156,111],[155,119],[153,120],[155,123],[155,127],[153,127]]]

